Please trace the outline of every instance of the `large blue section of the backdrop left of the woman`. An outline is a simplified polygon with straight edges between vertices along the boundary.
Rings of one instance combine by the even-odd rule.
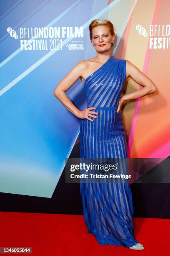
[[[95,55],[88,25],[97,13],[98,18],[107,18],[108,1],[18,0],[10,1],[9,7],[7,2],[0,2],[0,192],[51,197],[80,128],[79,118],[53,91],[78,61],[87,59],[87,50]],[[128,17],[121,32],[127,21]],[[45,27],[60,28],[60,37],[39,33],[33,38],[31,28],[36,32]],[[83,33],[69,37],[76,27],[83,27]],[[39,41],[39,48],[29,50],[25,45],[21,50],[21,40],[42,40],[47,48],[39,49]],[[71,44],[82,44],[82,49],[71,50]],[[80,79],[67,95],[77,108],[86,107]]]

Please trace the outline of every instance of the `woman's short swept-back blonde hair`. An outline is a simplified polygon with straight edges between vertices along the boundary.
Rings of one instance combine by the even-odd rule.
[[[111,35],[115,35],[113,24],[110,20],[92,20],[92,22],[89,25],[89,31],[90,31],[90,40],[92,41],[92,29],[97,26],[107,26],[109,28]]]

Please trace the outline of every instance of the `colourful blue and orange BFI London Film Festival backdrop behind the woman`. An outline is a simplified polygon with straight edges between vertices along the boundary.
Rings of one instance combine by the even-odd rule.
[[[80,129],[53,91],[79,61],[95,56],[88,26],[96,18],[114,25],[112,55],[131,61],[157,87],[123,109],[128,157],[158,159],[148,172],[168,158],[169,10],[168,0],[0,1],[1,193],[52,197]],[[126,80],[125,93],[140,88]],[[80,110],[87,106],[80,79],[66,94]]]

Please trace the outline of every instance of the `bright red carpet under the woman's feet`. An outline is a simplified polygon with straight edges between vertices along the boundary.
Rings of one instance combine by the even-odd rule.
[[[170,255],[169,219],[134,218],[134,228],[143,251],[100,245],[82,215],[0,212],[0,247],[32,247],[34,256]]]

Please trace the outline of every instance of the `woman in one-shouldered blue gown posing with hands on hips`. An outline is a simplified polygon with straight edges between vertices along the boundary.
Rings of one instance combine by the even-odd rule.
[[[155,84],[130,61],[111,55],[115,33],[109,20],[93,20],[90,40],[96,56],[80,61],[60,81],[54,95],[80,121],[80,158],[127,158],[127,144],[121,108],[156,91]],[[143,88],[121,96],[125,80],[131,77]],[[81,79],[87,93],[87,108],[80,111],[65,92]],[[129,183],[80,183],[87,233],[102,244],[143,250],[133,236],[133,202]]]

